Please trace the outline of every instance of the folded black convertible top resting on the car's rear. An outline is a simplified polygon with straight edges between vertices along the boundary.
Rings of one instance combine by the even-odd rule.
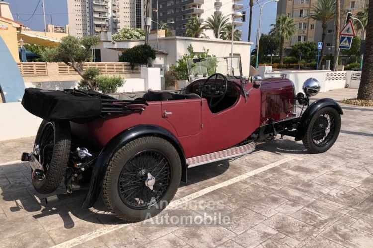
[[[144,110],[131,105],[148,105],[144,101],[117,100],[92,90],[43,90],[27,88],[22,99],[23,107],[35,116],[46,120],[84,122],[112,113],[129,113]]]

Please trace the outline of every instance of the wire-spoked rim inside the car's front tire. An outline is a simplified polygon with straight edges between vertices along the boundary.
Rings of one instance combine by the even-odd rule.
[[[335,132],[335,120],[330,113],[320,115],[312,128],[312,141],[322,147],[329,143]]]

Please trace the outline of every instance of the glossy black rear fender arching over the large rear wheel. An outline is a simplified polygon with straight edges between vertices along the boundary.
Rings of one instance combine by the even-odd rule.
[[[112,156],[126,143],[142,136],[158,136],[166,139],[174,145],[178,151],[182,162],[182,178],[181,180],[187,182],[187,163],[183,147],[178,139],[167,129],[156,125],[138,125],[131,127],[112,138],[109,143],[102,149],[93,166],[90,186],[86,198],[84,199],[83,208],[90,208],[98,199],[101,191],[102,180],[108,166],[108,162]]]

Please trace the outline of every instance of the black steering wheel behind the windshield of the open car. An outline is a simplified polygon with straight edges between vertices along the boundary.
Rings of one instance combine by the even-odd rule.
[[[221,90],[221,88],[219,87],[219,83],[217,81],[218,76],[224,79],[225,84],[223,85],[223,90]],[[211,84],[210,83],[207,84],[210,81],[210,79],[213,77],[215,77],[215,82]],[[208,106],[210,108],[216,107],[224,99],[225,94],[227,94],[227,89],[228,89],[227,78],[223,74],[220,74],[220,73],[212,74],[206,79],[206,81],[201,86],[201,98],[203,97],[203,94],[209,95],[210,101],[208,103]],[[219,99],[215,103],[212,103],[212,100],[217,97],[219,97]]]

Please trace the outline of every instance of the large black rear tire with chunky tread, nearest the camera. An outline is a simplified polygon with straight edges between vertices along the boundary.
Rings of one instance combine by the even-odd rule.
[[[163,156],[164,162],[158,163],[156,155],[152,157],[149,155],[151,153],[158,154],[158,159]],[[140,163],[140,160],[136,160],[139,158],[148,160],[141,160],[142,163]],[[163,171],[169,175],[169,178],[162,176]],[[128,172],[133,172],[133,174]],[[146,179],[149,179],[148,173],[154,174],[154,190],[145,185]],[[162,175],[157,181],[159,174]],[[125,177],[131,177],[131,179],[126,180]],[[162,177],[167,179],[162,179]],[[102,185],[103,200],[107,208],[120,219],[129,222],[141,221],[157,215],[167,206],[179,187],[180,179],[181,161],[175,147],[159,137],[141,137],[125,144],[109,161]],[[128,184],[131,186],[126,186]],[[133,196],[130,192],[134,193]],[[159,198],[154,197],[153,201],[145,203],[154,192],[158,192],[156,195]],[[140,205],[140,202],[144,206],[136,205],[136,203]]]

